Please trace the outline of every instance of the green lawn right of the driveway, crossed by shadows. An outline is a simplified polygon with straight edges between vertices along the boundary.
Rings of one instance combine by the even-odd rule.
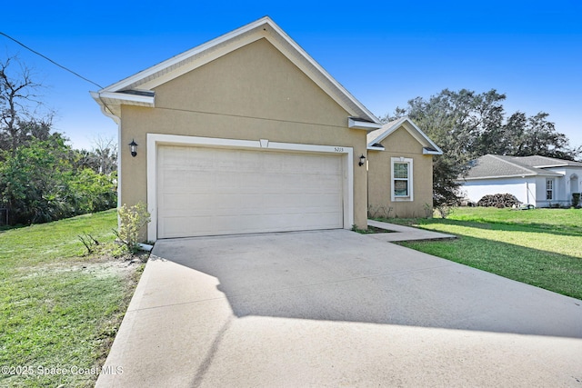
[[[447,219],[391,223],[456,234],[404,246],[582,299],[582,210],[457,208]]]

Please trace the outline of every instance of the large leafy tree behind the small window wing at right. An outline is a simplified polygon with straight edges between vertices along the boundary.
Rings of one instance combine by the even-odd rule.
[[[547,113],[527,117],[516,112],[506,120],[505,99],[495,89],[482,94],[445,89],[428,100],[416,97],[383,118],[386,122],[409,116],[443,150],[433,165],[436,206],[458,202],[457,179],[478,156],[537,154],[575,160],[582,154],[582,147],[571,148],[567,136],[557,133]]]

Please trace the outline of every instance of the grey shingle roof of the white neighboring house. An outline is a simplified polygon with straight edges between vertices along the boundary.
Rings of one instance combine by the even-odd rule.
[[[466,181],[491,178],[509,178],[525,176],[563,176],[544,168],[530,165],[536,161],[535,158],[541,156],[503,156],[496,154],[486,154],[473,161],[473,166],[463,177]],[[552,159],[552,158],[547,158]],[[559,159],[554,159],[559,160]],[[576,162],[572,162],[575,163]],[[579,164],[582,167],[582,164]]]

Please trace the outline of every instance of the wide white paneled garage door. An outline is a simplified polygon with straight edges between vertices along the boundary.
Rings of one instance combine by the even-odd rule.
[[[344,227],[342,158],[161,145],[160,238]]]

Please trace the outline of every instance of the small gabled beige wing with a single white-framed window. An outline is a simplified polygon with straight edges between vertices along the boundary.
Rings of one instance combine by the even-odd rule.
[[[409,118],[367,134],[368,214],[425,217],[432,214],[433,155],[443,154]]]

